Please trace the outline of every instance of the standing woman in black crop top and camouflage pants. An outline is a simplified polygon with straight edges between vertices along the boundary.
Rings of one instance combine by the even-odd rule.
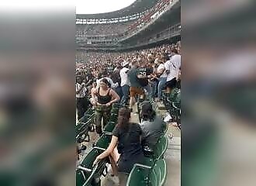
[[[92,91],[92,105],[95,107],[95,125],[96,132],[102,134],[102,118],[103,127],[109,121],[112,103],[119,101],[119,95],[116,91],[109,88],[109,81],[103,78],[99,82],[99,88]]]

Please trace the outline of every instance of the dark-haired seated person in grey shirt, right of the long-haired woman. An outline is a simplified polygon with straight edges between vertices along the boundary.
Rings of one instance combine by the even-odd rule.
[[[161,116],[156,115],[150,102],[142,102],[141,105],[141,143],[143,146],[154,148],[159,138],[164,134],[165,123]]]

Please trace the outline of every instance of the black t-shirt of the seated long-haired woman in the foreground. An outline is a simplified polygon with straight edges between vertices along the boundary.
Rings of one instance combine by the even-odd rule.
[[[130,123],[130,129],[119,129],[118,126],[112,131],[112,135],[118,137],[117,150],[126,160],[142,153],[140,136],[142,130],[137,123]]]

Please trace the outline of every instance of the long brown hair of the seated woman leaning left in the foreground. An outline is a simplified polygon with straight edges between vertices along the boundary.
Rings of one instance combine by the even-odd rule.
[[[119,109],[117,125],[119,129],[126,130],[129,129],[129,121],[130,121],[130,109],[123,107]]]

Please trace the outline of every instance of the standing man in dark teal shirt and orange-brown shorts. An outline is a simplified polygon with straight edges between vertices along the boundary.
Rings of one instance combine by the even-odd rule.
[[[130,81],[130,108],[136,103],[136,96],[144,96],[144,89],[140,85],[140,80],[138,76],[138,65],[137,61],[133,60],[132,67],[128,72],[128,80]]]

